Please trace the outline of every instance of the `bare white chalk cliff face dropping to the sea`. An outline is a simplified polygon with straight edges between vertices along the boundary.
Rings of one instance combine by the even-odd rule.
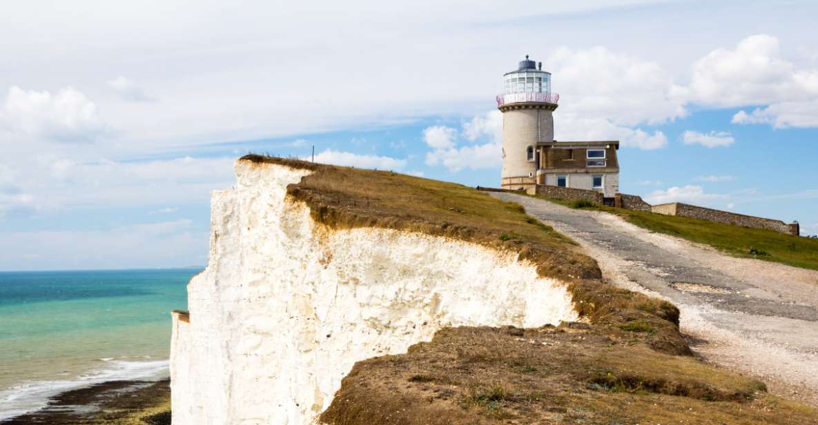
[[[516,253],[419,233],[334,230],[286,186],[308,170],[236,161],[215,191],[209,264],[173,319],[174,425],[313,423],[358,360],[442,327],[577,320]]]

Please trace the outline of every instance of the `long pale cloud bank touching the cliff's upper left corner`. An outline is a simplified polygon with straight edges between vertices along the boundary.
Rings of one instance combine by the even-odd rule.
[[[234,160],[182,157],[80,163],[44,156],[25,164],[0,164],[0,194],[6,194],[0,209],[30,215],[77,207],[206,204],[210,190],[231,185]]]

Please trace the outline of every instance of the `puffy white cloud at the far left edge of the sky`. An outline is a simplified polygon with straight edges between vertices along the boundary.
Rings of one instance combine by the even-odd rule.
[[[108,132],[97,105],[71,87],[56,95],[9,88],[0,111],[2,122],[12,131],[45,141],[90,142]]]

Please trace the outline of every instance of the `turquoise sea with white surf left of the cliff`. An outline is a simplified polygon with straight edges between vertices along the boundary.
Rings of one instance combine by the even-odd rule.
[[[168,376],[170,311],[201,268],[0,272],[0,420],[63,391]]]

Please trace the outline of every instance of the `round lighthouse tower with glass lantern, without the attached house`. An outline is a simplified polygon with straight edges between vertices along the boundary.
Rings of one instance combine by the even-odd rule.
[[[528,189],[537,184],[541,168],[537,144],[554,141],[554,117],[560,95],[551,92],[551,73],[533,60],[519,62],[505,74],[506,88],[497,96],[503,113],[503,172],[501,187]]]

